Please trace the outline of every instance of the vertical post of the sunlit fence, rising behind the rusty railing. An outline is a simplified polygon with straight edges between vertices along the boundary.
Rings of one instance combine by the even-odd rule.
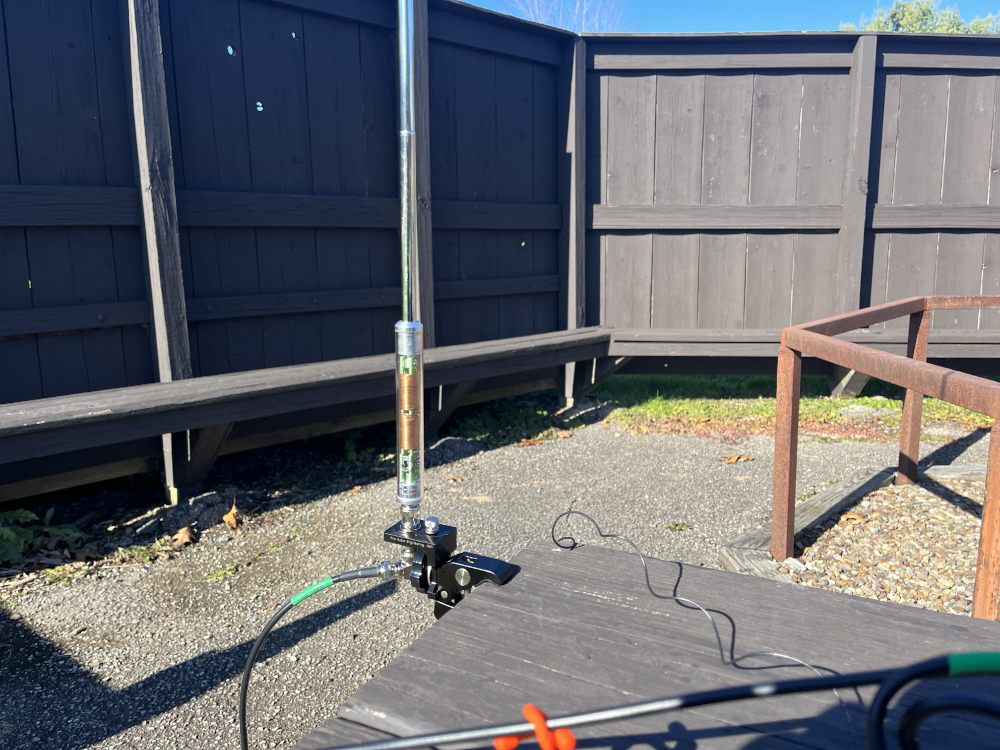
[[[861,36],[854,46],[847,112],[847,154],[841,188],[843,214],[837,238],[837,311],[851,312],[864,296],[865,227],[868,224],[868,174],[875,105],[878,37]],[[871,201],[874,203],[874,201]]]

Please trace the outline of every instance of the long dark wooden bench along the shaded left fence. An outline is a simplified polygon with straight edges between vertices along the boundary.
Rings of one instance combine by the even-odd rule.
[[[431,429],[462,403],[554,387],[557,368],[607,354],[606,329],[572,331],[438,347],[426,352],[425,385]],[[149,466],[159,436],[188,431],[190,448],[175,451],[177,486],[196,486],[220,452],[246,450],[361,424],[394,414],[393,356],[317,362],[215,375],[170,383],[78,393],[0,406],[0,501],[58,488],[59,469],[86,462],[106,446],[124,460],[105,463],[104,476]],[[519,376],[524,376],[520,377]],[[527,378],[527,380],[525,380]],[[434,398],[434,396],[438,398]],[[225,444],[230,450],[225,450]],[[235,445],[233,445],[235,443]],[[187,446],[185,446],[187,448]],[[67,456],[69,454],[69,456]],[[82,459],[74,459],[82,456]],[[106,461],[106,459],[105,459]],[[53,476],[55,469],[55,476]],[[41,481],[25,476],[32,470]],[[118,473],[115,473],[118,472]],[[46,484],[46,479],[48,484]],[[77,484],[80,481],[77,479]],[[64,484],[63,486],[69,486]]]

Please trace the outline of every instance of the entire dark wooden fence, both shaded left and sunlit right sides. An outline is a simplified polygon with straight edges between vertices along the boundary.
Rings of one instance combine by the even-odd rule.
[[[0,10],[0,404],[390,351],[394,0]],[[591,374],[773,370],[789,324],[1000,293],[994,39],[581,38],[416,10],[432,346],[602,325]],[[996,311],[935,315],[932,358],[997,356]],[[561,367],[451,400],[568,396]],[[221,450],[338,415],[237,423]],[[0,485],[128,473],[157,440],[0,455]]]

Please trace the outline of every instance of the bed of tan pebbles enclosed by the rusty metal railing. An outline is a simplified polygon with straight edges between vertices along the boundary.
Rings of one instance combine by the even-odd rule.
[[[969,614],[985,495],[968,480],[883,487],[827,524],[804,569],[780,570],[805,586]]]

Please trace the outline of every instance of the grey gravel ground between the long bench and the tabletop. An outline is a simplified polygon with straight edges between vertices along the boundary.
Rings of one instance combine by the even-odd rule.
[[[952,437],[925,455],[938,447],[933,463],[985,463],[983,433]],[[734,453],[755,460],[719,460]],[[525,448],[447,439],[433,452],[425,513],[456,524],[467,551],[509,558],[573,507],[653,556],[714,567],[719,545],[768,522],[772,456],[766,437],[631,436],[600,423]],[[799,490],[895,458],[891,444],[805,442]],[[393,482],[338,491],[354,475],[328,463],[325,488],[259,488],[280,507],[235,535],[216,526],[174,559],[100,569],[5,604],[0,746],[238,747],[239,676],[263,623],[310,583],[394,555],[381,541],[396,520]],[[678,523],[690,529],[667,529]],[[579,519],[573,528],[595,537]],[[429,603],[395,589],[344,584],[275,629],[251,690],[254,747],[293,744],[431,625]]]

